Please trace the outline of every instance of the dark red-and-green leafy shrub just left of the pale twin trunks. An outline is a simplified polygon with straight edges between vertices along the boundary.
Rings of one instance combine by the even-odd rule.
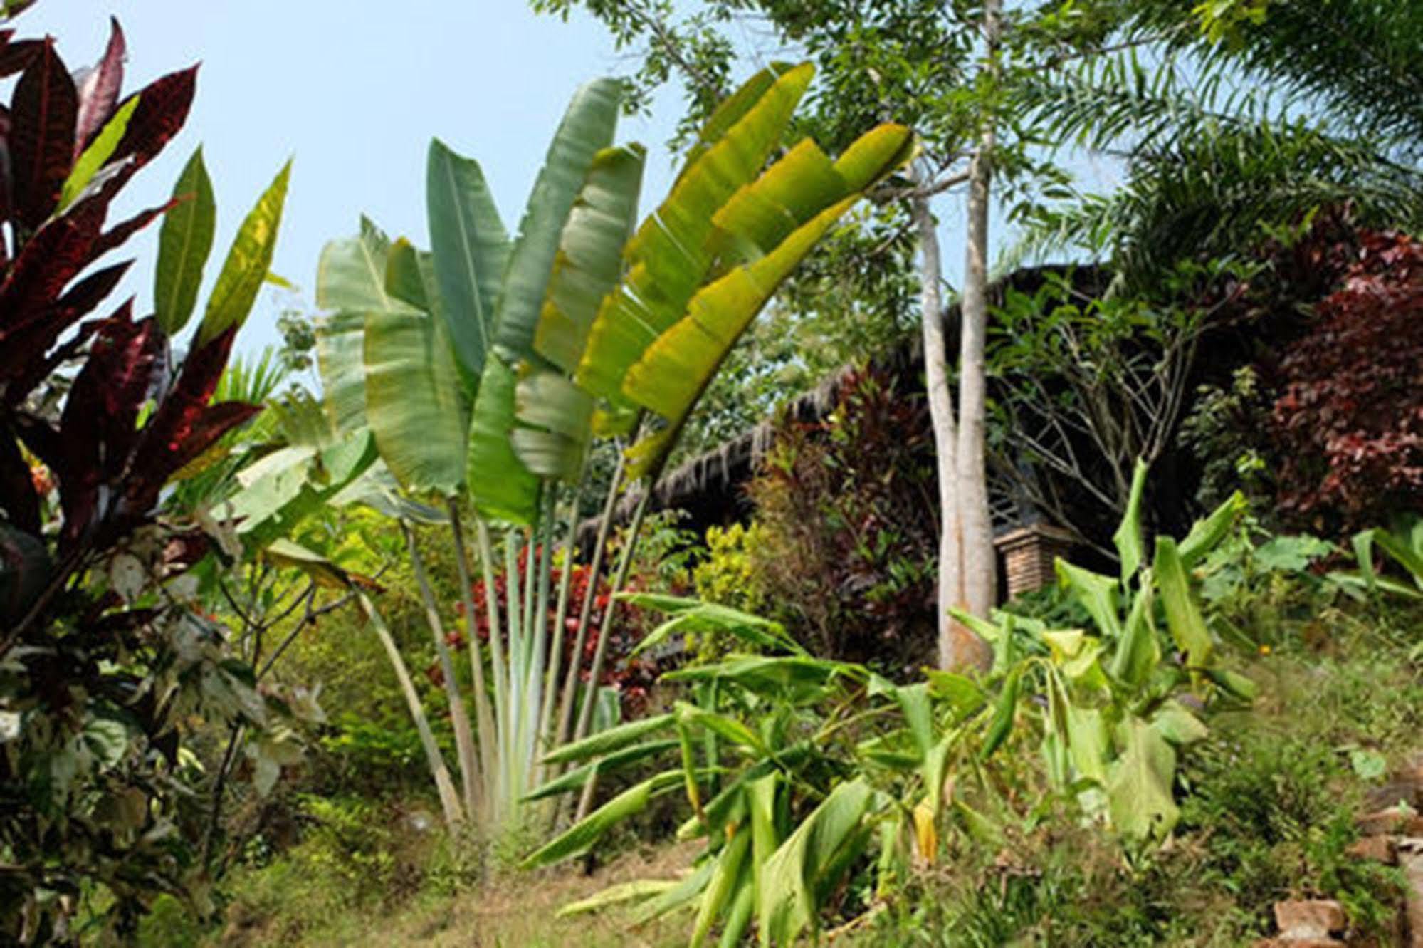
[[[928,407],[885,370],[844,377],[825,420],[778,426],[747,487],[746,557],[771,615],[817,655],[895,678],[931,660],[933,470]]]

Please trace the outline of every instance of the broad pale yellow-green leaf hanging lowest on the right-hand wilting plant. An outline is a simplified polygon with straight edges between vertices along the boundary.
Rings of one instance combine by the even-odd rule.
[[[1127,717],[1117,732],[1121,754],[1107,779],[1111,823],[1128,838],[1163,840],[1180,817],[1171,796],[1175,752],[1138,717]]]

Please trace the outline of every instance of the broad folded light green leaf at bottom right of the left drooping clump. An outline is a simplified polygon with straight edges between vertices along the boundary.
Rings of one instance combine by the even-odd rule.
[[[821,908],[817,890],[840,848],[858,836],[872,800],[864,780],[835,786],[761,867],[763,944],[791,945],[815,925]]]

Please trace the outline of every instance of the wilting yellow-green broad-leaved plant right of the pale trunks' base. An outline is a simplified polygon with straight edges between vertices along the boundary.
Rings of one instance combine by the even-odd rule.
[[[1249,679],[1218,660],[1218,636],[1191,576],[1244,515],[1244,497],[1229,497],[1180,542],[1157,537],[1147,561],[1144,488],[1146,465],[1138,463],[1113,537],[1118,575],[1056,564],[1059,586],[1093,628],[1052,629],[1005,612],[993,621],[959,615],[995,646],[1005,725],[1012,726],[1015,705],[1029,713],[1044,709],[1042,753],[1054,786],[1143,843],[1164,840],[1175,826],[1178,750],[1208,733],[1198,713],[1255,693]],[[989,750],[1003,737],[1006,730]]]

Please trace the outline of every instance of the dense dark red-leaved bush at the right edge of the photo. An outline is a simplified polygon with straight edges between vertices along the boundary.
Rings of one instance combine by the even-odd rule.
[[[1279,364],[1279,505],[1339,535],[1423,508],[1423,243],[1362,232]]]

